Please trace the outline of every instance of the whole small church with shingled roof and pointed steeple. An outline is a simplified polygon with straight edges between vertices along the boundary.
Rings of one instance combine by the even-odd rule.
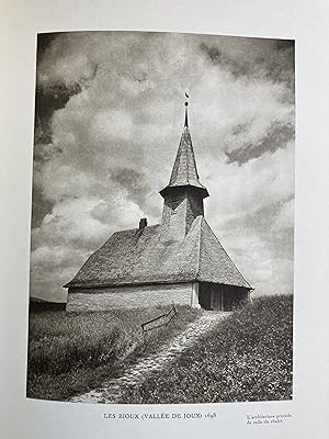
[[[67,312],[188,305],[230,311],[252,286],[204,217],[204,199],[185,121],[171,177],[160,191],[160,224],[114,233],[93,252],[68,289]],[[216,201],[217,202],[217,201]]]

